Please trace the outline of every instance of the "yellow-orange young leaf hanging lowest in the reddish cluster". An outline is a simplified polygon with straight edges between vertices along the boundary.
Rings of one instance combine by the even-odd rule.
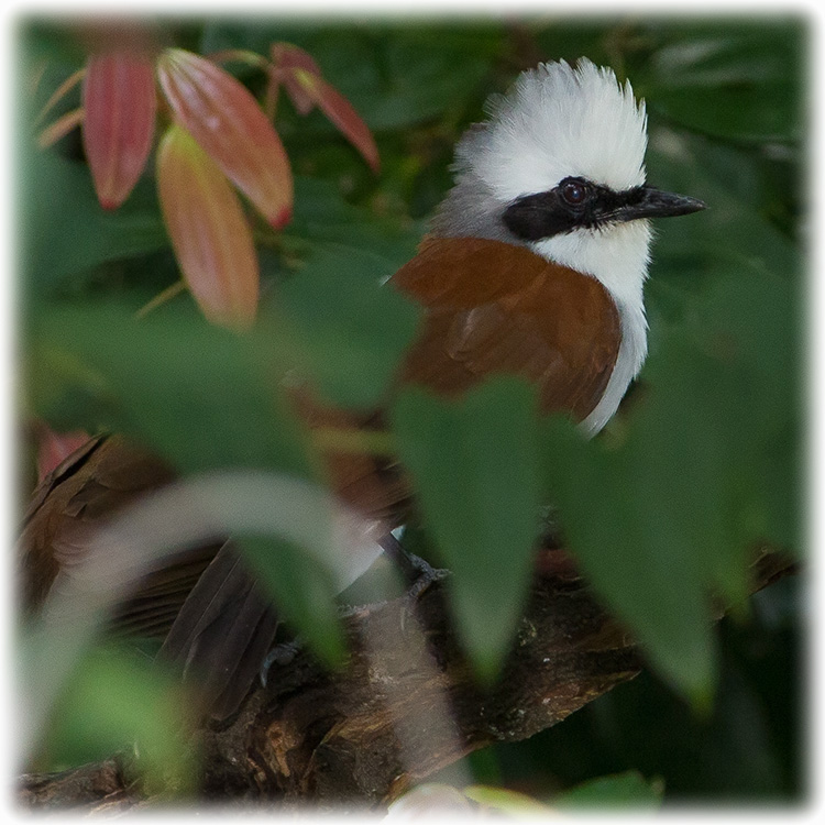
[[[157,187],[175,256],[204,315],[250,326],[258,292],[252,231],[223,173],[178,124],[161,141]]]

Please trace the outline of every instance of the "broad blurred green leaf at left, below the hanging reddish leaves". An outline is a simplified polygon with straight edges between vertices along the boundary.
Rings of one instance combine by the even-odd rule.
[[[110,302],[50,305],[30,331],[32,407],[53,420],[65,398],[81,396],[73,428],[132,436],[182,471],[249,466],[309,475],[278,388],[283,356],[265,327],[237,336],[184,304],[142,321]]]

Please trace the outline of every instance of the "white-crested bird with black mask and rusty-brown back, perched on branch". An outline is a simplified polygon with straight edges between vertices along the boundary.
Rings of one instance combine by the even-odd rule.
[[[645,106],[608,68],[543,64],[488,111],[458,145],[454,187],[418,254],[385,287],[424,310],[394,386],[452,397],[513,373],[536,385],[543,413],[566,413],[592,436],[645,361],[650,219],[704,204],[647,184]],[[382,410],[330,409],[311,387],[295,394],[295,407],[309,428],[382,426]],[[391,458],[330,453],[327,472],[371,537],[354,578],[404,524],[414,491]],[[117,437],[94,439],[57,468],[25,517],[28,609],[76,564],[96,525],[170,479],[162,461]],[[212,713],[226,717],[258,672],[277,619],[238,551],[217,542],[147,576],[116,624],[165,639],[168,658],[207,674]]]

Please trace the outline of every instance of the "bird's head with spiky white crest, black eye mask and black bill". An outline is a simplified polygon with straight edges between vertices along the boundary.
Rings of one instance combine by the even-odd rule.
[[[581,59],[525,72],[462,138],[457,185],[433,223],[443,235],[494,238],[602,280],[637,302],[649,218],[704,204],[648,186],[647,117],[629,82]]]

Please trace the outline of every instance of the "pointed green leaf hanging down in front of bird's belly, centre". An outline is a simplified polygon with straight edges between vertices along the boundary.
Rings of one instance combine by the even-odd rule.
[[[492,377],[457,402],[404,391],[393,432],[453,576],[451,604],[479,673],[490,680],[513,639],[538,535],[537,403]]]

